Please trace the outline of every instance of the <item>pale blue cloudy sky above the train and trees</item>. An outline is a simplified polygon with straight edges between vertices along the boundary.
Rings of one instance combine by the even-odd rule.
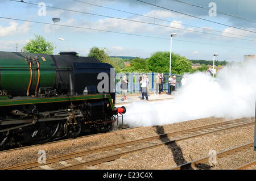
[[[51,9],[49,7],[46,7],[45,16],[39,16],[38,11],[40,10],[40,7],[38,6],[20,2],[13,2],[9,0],[0,1],[0,16],[2,17],[45,23],[52,23],[52,18],[60,18],[61,20],[57,24],[166,38],[154,39],[150,37],[121,35],[118,33],[56,26],[56,52],[67,50],[67,42],[58,40],[58,37],[61,37],[68,40],[69,50],[75,51],[82,56],[86,56],[89,52],[89,49],[93,46],[96,46],[100,48],[105,47],[108,50],[110,56],[138,56],[146,58],[150,57],[152,53],[157,51],[170,51],[170,40],[168,39],[170,38],[170,34],[175,32],[177,33],[177,37],[174,37],[173,39],[172,52],[179,53],[181,56],[185,56],[188,59],[211,60],[213,54],[218,53],[218,60],[240,62],[243,60],[243,55],[256,54],[256,36],[253,32],[238,30],[236,28],[226,27],[220,24],[181,15],[176,12],[168,11],[166,9],[147,5],[136,0],[79,1],[92,3],[94,5],[110,7],[112,9],[129,11],[146,16],[155,16],[155,18],[168,21],[156,20],[154,18],[145,18],[143,16],[109,10],[73,0],[23,1],[35,3],[36,5],[38,5],[38,3],[40,2],[43,2],[46,4],[46,6],[59,7],[62,9],[89,12],[92,14],[113,16],[117,18],[124,18],[148,23],[155,22],[156,24],[160,24],[163,26],[172,26],[172,28],[156,26],[154,24],[145,24],[139,22],[131,22],[127,20],[106,18],[103,16],[88,15],[79,12]],[[191,3],[193,5],[205,8],[210,8],[208,7],[209,3],[214,2],[216,3],[217,11],[224,12],[226,14],[237,15],[238,17],[253,20],[254,22],[233,18],[232,16],[226,16],[218,12],[216,16],[209,16],[208,10],[189,6],[184,3],[176,2],[174,0],[143,1],[156,4],[157,6],[166,7],[167,9],[172,9],[193,16],[198,16],[200,18],[212,20],[214,22],[242,28],[244,30],[256,31],[256,11],[254,9],[254,7],[256,7],[256,1],[254,0],[181,0],[183,2]],[[196,27],[208,28],[210,30],[217,30],[220,32],[206,31],[200,28],[185,26],[185,24]],[[184,30],[180,30],[177,28],[182,28]],[[205,33],[191,32],[188,30],[204,31],[217,35],[239,37],[242,39],[249,39],[253,41],[208,35]],[[38,24],[0,18],[0,50],[15,52],[16,44],[18,44],[18,50],[20,50],[28,42],[29,39],[34,38],[34,33],[36,35],[42,35],[48,41],[53,42],[53,25],[51,24]],[[242,37],[238,35],[248,37]],[[209,44],[189,43],[184,41],[195,41]],[[210,44],[220,44],[231,47]]]

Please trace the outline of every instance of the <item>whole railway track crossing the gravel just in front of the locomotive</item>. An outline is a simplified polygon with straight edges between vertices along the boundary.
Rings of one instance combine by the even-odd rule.
[[[123,155],[133,153],[135,151],[156,148],[158,146],[172,144],[177,141],[187,140],[204,136],[205,134],[224,131],[232,128],[243,127],[254,124],[253,119],[238,119],[225,121],[217,124],[205,125],[203,127],[186,129],[178,132],[159,134],[158,136],[142,138],[139,140],[122,142],[119,144],[103,146],[100,148],[79,151],[59,157],[46,159],[46,165],[41,165],[37,161],[24,163],[22,165],[7,167],[3,170],[16,169],[80,169],[84,166],[96,165],[103,162],[113,161]],[[171,137],[171,139],[170,139]],[[168,138],[168,139],[167,139]],[[155,141],[152,141],[155,140]],[[166,141],[168,140],[168,141]],[[133,146],[131,146],[133,145]],[[121,149],[122,148],[122,149]],[[133,148],[133,149],[131,149]],[[135,148],[135,149],[134,149]],[[102,157],[102,155],[104,155]],[[86,158],[82,158],[86,157]],[[69,162],[66,162],[69,160]]]

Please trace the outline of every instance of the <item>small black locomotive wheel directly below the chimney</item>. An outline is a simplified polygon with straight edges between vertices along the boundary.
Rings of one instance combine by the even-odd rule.
[[[82,131],[81,121],[77,121],[77,124],[65,124],[63,129],[68,138],[76,138]]]

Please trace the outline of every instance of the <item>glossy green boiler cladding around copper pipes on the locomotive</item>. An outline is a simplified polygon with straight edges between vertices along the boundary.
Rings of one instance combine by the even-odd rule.
[[[29,54],[31,58],[38,56],[40,66],[39,87],[53,87],[55,83],[55,66],[51,56],[47,54]],[[1,90],[7,91],[27,91],[30,83],[30,65],[24,57],[28,53],[0,52]],[[46,61],[43,61],[42,57]],[[32,82],[30,93],[34,94],[36,83],[38,81],[38,70],[35,61],[32,66]]]

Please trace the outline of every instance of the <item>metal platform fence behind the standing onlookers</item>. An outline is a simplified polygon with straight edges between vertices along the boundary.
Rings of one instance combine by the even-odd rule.
[[[143,73],[116,73],[115,74],[115,94],[122,94],[122,88],[121,88],[121,83],[120,83],[120,79],[123,78],[124,75],[126,75],[127,77],[127,81],[128,81],[128,87],[127,87],[127,92],[129,94],[133,94],[133,93],[139,93],[141,92],[141,77],[142,77]],[[156,76],[158,75],[158,73],[144,73],[147,75],[148,78],[148,91],[150,92],[155,92],[156,90]],[[176,75],[176,74],[172,74],[172,75]],[[164,83],[163,86],[163,91],[168,91],[169,88],[169,84],[168,84],[168,78],[169,78],[169,74],[166,73],[164,74],[164,77],[166,77],[166,81]],[[181,86],[181,75],[176,75],[176,87],[175,89],[179,89],[179,87]]]

